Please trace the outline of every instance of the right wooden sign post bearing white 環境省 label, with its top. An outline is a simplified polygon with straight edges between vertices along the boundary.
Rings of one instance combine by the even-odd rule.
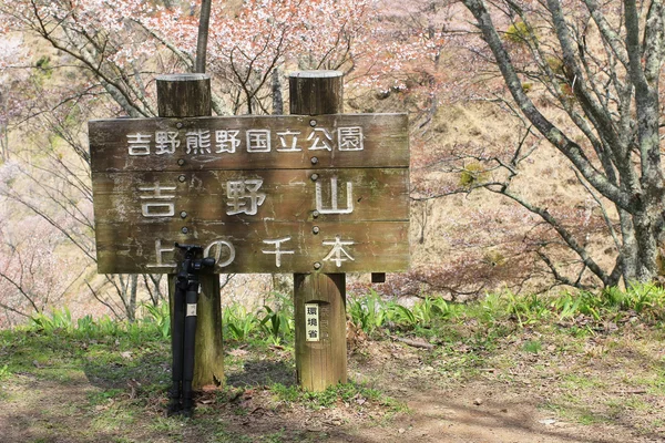
[[[339,71],[299,71],[289,76],[290,113],[342,112],[344,78]],[[335,235],[335,233],[325,233]],[[320,234],[319,234],[320,236]],[[318,341],[306,337],[306,305],[318,307]],[[304,389],[324,391],[347,382],[346,275],[295,274],[296,378]]]

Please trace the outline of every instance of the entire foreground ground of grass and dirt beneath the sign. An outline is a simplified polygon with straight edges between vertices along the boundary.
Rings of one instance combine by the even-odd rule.
[[[320,394],[293,385],[290,338],[256,330],[226,343],[227,387],[202,393],[192,420],[164,416],[170,351],[153,323],[2,331],[0,441],[463,441],[437,440],[442,423],[485,441],[663,439],[664,300],[385,305],[382,324],[351,327],[355,382]]]

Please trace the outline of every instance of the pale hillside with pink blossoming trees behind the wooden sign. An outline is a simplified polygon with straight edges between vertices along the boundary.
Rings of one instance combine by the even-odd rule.
[[[510,179],[520,198],[557,217],[595,262],[615,262],[608,226],[617,215],[515,114],[461,4],[259,3],[226,2],[213,11],[215,112],[276,112],[274,91],[288,103],[285,75],[319,68],[346,72],[347,112],[409,113],[412,270],[389,276],[379,292],[467,299],[564,282],[603,286],[552,225],[485,186]],[[35,21],[34,14],[52,12],[47,9],[3,10],[3,44],[11,49],[1,65],[3,326],[54,305],[71,306],[76,317],[132,318],[137,302],[158,303],[165,293],[158,276],[95,275],[85,122],[154,115],[154,76],[191,64],[197,9],[176,1],[121,2],[104,11],[93,2],[54,8],[66,17],[64,24]],[[510,50],[524,55],[525,48],[510,40],[520,28],[505,18],[499,23]],[[561,96],[545,83],[525,81],[523,87],[582,141]],[[367,281],[358,276],[354,287],[366,291]],[[223,298],[253,305],[290,286],[288,276],[234,276]]]

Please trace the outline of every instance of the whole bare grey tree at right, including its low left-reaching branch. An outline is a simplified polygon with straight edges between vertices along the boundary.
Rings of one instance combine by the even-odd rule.
[[[565,158],[583,188],[601,208],[616,249],[613,266],[596,260],[548,207],[529,202],[514,186],[529,144],[512,158],[490,159],[501,179],[480,183],[538,215],[603,286],[648,281],[658,275],[664,234],[665,188],[661,154],[665,58],[665,8],[661,0],[600,3],[596,0],[543,2],[462,0],[482,42],[478,55],[495,63],[513,110]],[[480,49],[479,49],[480,48]],[[484,53],[488,49],[490,52]],[[556,122],[532,99],[536,83],[565,112]],[[529,86],[529,87],[528,87]],[[487,159],[487,157],[485,157]],[[541,251],[543,262],[562,282],[580,286]]]

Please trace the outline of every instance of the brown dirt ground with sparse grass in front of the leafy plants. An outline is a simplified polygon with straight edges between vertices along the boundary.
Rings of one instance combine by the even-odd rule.
[[[269,383],[293,385],[290,352],[231,351],[232,393],[203,393],[192,420],[165,418],[164,390],[145,391],[139,372],[110,383],[122,363],[104,374],[35,361],[34,372],[0,381],[0,442],[665,442],[661,332],[638,347],[630,343],[644,334],[634,331],[574,348],[540,337],[536,353],[523,351],[526,336],[473,370],[458,361],[459,371],[468,350],[444,358],[391,340],[354,348],[349,379],[397,408],[360,393],[328,408],[285,401]]]

